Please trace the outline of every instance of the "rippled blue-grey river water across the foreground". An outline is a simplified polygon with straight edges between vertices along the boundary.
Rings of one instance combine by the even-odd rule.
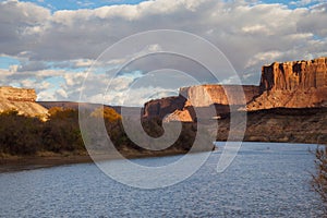
[[[185,181],[156,190],[120,184],[94,164],[1,173],[0,217],[322,217],[310,147],[243,143],[225,172],[216,172],[221,152],[213,153]]]

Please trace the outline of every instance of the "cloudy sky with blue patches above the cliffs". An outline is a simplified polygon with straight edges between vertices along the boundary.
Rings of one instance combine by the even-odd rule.
[[[156,29],[190,33],[218,48],[237,73],[221,68],[220,83],[257,85],[264,64],[327,56],[326,8],[325,0],[0,1],[0,85],[35,88],[38,100],[142,106],[181,86],[217,83],[185,57],[147,56],[125,65],[164,51],[165,43],[153,38],[142,48],[129,44],[124,57],[106,53],[131,35]]]

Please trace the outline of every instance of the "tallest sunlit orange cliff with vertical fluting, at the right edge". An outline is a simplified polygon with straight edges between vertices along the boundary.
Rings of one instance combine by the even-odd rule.
[[[259,89],[249,110],[325,107],[327,58],[264,65]]]

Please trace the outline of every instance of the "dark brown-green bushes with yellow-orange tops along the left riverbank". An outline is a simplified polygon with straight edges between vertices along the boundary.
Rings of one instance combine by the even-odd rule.
[[[157,156],[185,153],[192,147],[197,131],[196,123],[183,123],[181,134],[173,145],[164,150],[149,150],[140,147],[129,138],[122,125],[122,117],[112,108],[100,107],[89,111],[89,119],[105,119],[111,142],[128,157],[137,157],[142,154]],[[51,108],[46,122],[38,118],[17,114],[14,110],[5,111],[0,114],[0,158],[87,154],[80,130],[78,111],[75,109]],[[133,121],[130,123],[133,125]],[[143,129],[155,137],[164,133],[162,122],[157,119],[143,121]]]

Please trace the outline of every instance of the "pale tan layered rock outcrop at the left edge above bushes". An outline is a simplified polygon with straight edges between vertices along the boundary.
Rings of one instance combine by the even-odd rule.
[[[16,110],[19,114],[45,119],[48,110],[35,102],[36,97],[34,89],[0,87],[0,112]]]

